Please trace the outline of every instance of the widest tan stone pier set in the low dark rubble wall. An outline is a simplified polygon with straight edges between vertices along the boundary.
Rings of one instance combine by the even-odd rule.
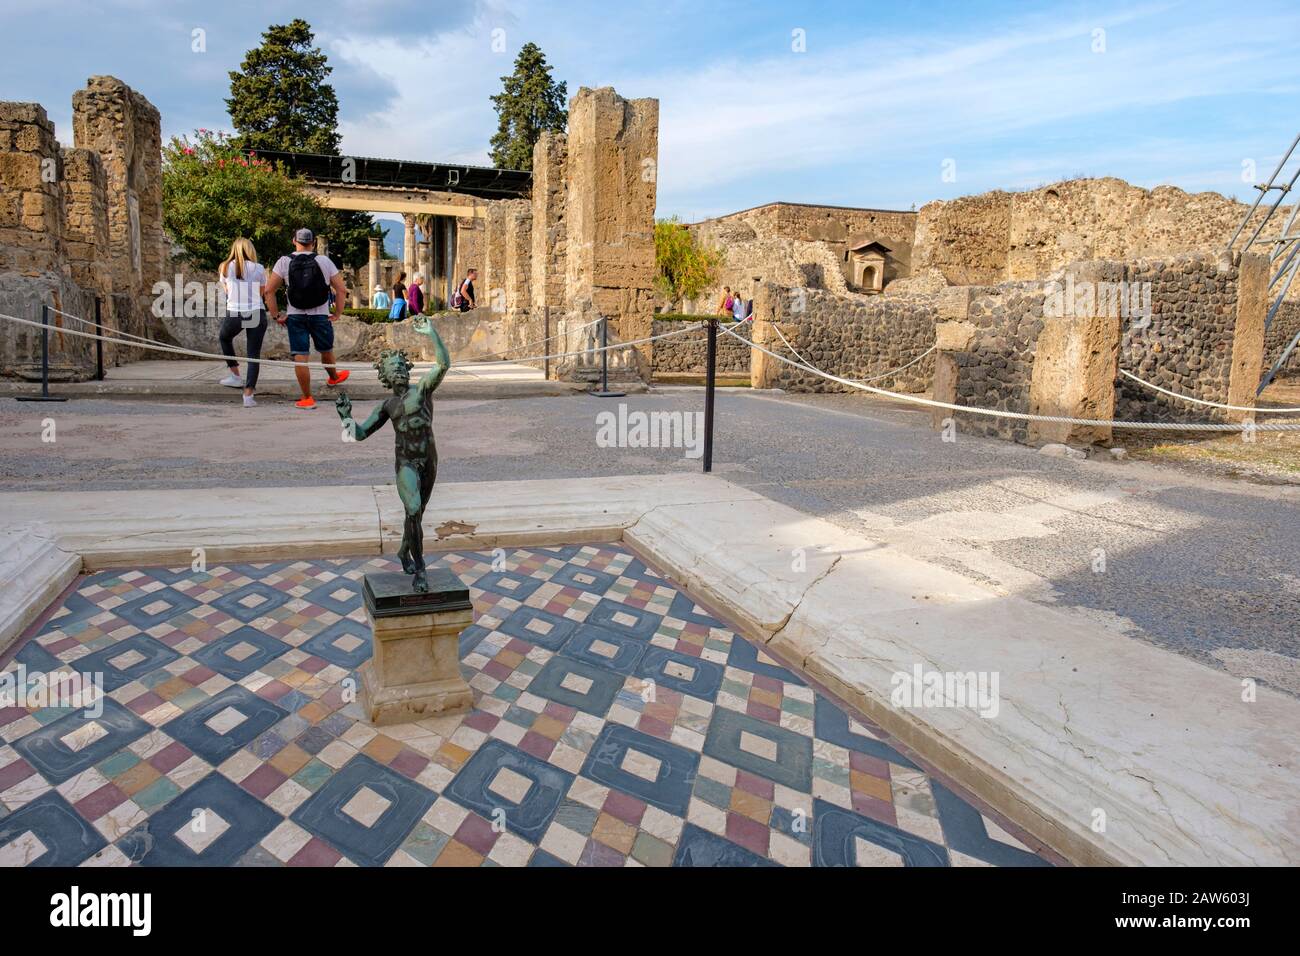
[[[1066,269],[1065,280],[1119,284],[1124,280],[1118,263],[1078,263]],[[1118,285],[1115,285],[1118,287]],[[1058,297],[1060,298],[1060,297]],[[1072,297],[1071,297],[1072,298]],[[1112,419],[1115,414],[1115,378],[1119,375],[1119,321],[1105,297],[1080,297],[1069,308],[1045,306],[1043,332],[1034,350],[1034,372],[1030,376],[1030,414],[1062,415],[1074,419]],[[1050,303],[1053,297],[1048,297]],[[1063,300],[1063,299],[1062,299]],[[1079,307],[1093,303],[1092,315],[1078,315]],[[1063,311],[1066,315],[1050,315]],[[1071,425],[1053,421],[1030,421],[1031,445],[1046,442],[1084,444],[1110,441],[1109,425]]]

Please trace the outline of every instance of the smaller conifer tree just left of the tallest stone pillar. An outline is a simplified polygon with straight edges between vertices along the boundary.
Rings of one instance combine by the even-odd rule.
[[[533,146],[546,130],[568,124],[568,85],[551,78],[546,55],[525,43],[515,57],[515,72],[502,77],[502,92],[491,98],[499,122],[491,138],[491,161],[498,169],[532,169]]]

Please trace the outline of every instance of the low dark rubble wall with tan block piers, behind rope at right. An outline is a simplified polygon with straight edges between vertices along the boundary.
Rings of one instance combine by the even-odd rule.
[[[754,341],[794,358],[777,337],[780,329],[824,372],[894,392],[932,390],[956,405],[1079,419],[1236,421],[1240,414],[1161,395],[1118,369],[1193,398],[1251,405],[1265,351],[1279,350],[1286,334],[1275,325],[1265,342],[1266,278],[1268,259],[1261,255],[1190,254],[1072,263],[1053,274],[1053,285],[1011,281],[918,295],[836,295],[768,284],[755,302]],[[1069,287],[1067,281],[1080,289],[1082,282],[1123,282],[1128,289],[1149,284],[1149,324],[1140,315],[1123,315],[1118,299],[1101,293],[1086,306],[1065,308],[1063,316],[1048,308],[1049,293]],[[1297,312],[1286,308],[1279,323],[1300,325]],[[876,378],[931,346],[936,351],[915,365]],[[854,390],[757,349],[751,364],[755,388]],[[936,425],[946,418],[936,411]],[[1030,444],[1110,438],[1109,428],[974,415],[959,415],[958,431]]]

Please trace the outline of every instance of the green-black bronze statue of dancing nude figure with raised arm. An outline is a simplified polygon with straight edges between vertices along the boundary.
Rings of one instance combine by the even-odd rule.
[[[415,589],[428,591],[429,580],[424,567],[424,509],[433,493],[433,483],[438,477],[438,449],[433,444],[433,392],[442,384],[451,356],[442,337],[424,316],[416,316],[412,328],[433,341],[433,368],[415,385],[411,385],[411,359],[404,351],[385,350],[374,367],[380,371],[380,381],[393,389],[393,397],[370,412],[361,424],[352,419],[352,399],[347,394],[334,401],[343,427],[352,432],[358,441],[365,441],[384,423],[393,420],[396,432],[396,479],[398,494],[406,509],[406,524],[402,529],[402,548],[398,557],[402,570],[415,575]]]

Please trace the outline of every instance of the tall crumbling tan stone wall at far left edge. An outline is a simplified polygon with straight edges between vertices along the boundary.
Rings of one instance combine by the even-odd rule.
[[[108,330],[148,336],[166,261],[157,109],[120,79],[91,77],[73,96],[73,134],[75,147],[61,148],[39,104],[0,104],[0,311],[39,320],[48,304],[92,320],[98,298]],[[31,377],[39,355],[38,330],[0,328],[0,375]],[[142,355],[104,343],[105,364]],[[90,339],[51,336],[56,377],[86,378],[94,362]]]

